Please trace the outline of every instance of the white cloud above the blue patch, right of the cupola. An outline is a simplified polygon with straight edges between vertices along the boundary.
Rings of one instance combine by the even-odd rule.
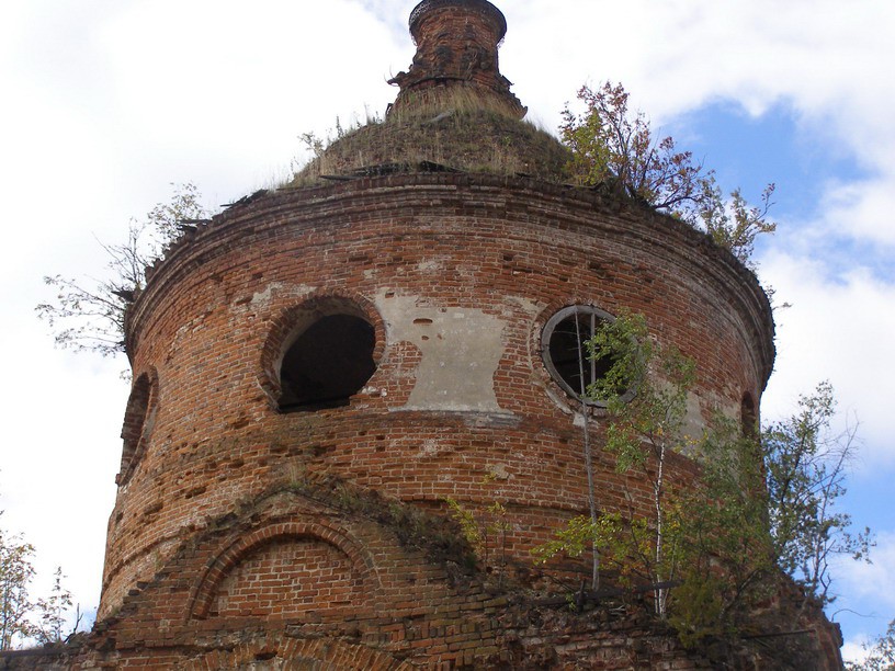
[[[578,0],[563,11],[530,0],[505,9],[511,19],[505,55],[519,59],[523,73],[554,67],[541,78],[552,105],[588,78],[611,78],[624,81],[658,117],[718,98],[738,100],[754,114],[791,100],[800,111],[832,120],[840,132],[870,134],[853,123],[858,112],[885,134],[895,83],[884,69],[895,53],[895,16],[882,0]],[[558,58],[532,48],[544,35],[562,36],[553,47]]]

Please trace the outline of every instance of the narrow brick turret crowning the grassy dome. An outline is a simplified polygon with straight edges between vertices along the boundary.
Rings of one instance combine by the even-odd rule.
[[[410,13],[413,62],[389,81],[400,87],[392,112],[412,114],[452,102],[522,118],[526,110],[498,67],[506,33],[507,20],[486,0],[420,2]]]

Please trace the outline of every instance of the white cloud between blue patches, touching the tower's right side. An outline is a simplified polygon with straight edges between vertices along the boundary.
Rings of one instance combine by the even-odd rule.
[[[777,366],[762,410],[786,416],[798,394],[829,379],[843,414],[857,417],[868,466],[895,462],[895,285],[857,266],[830,276],[819,259],[771,252],[762,278],[777,291]],[[847,418],[841,417],[840,423]]]

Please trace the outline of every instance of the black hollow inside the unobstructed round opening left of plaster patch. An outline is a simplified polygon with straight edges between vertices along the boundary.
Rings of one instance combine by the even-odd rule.
[[[281,410],[347,406],[376,371],[373,326],[352,315],[321,317],[292,343],[280,368]]]

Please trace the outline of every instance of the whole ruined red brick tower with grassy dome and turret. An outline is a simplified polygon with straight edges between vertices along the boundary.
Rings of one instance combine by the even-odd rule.
[[[102,603],[72,666],[707,668],[636,618],[533,601],[524,567],[586,507],[570,333],[644,314],[698,362],[699,431],[716,409],[755,418],[770,307],[702,234],[563,184],[564,148],[500,75],[506,30],[485,0],[421,2],[383,123],[150,270]],[[646,482],[596,467],[602,510],[648,514]],[[449,498],[507,509],[500,576]]]

